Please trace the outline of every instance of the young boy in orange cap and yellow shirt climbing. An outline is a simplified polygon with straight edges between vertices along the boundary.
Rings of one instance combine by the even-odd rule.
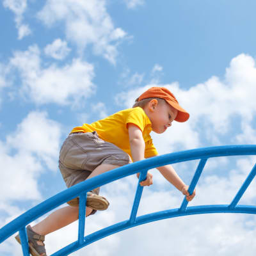
[[[74,128],[60,150],[59,167],[67,187],[148,157],[157,156],[150,132],[163,133],[173,120],[186,122],[189,113],[179,106],[175,96],[164,87],[152,87],[142,93],[133,108],[124,109],[92,124]],[[188,186],[170,164],[157,168],[166,180],[179,189],[186,199]],[[139,173],[137,174],[139,177]],[[141,186],[152,185],[147,173]],[[44,236],[78,219],[79,198],[70,200],[67,207],[52,212],[34,227],[27,227],[29,248],[33,256],[45,256]],[[99,188],[88,192],[86,216],[105,210],[109,202],[99,196]],[[19,242],[19,235],[15,237]]]

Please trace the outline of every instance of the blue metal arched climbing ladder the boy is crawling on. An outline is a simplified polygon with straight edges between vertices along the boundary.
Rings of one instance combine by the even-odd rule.
[[[196,184],[200,178],[202,171],[204,170],[205,163],[207,159],[211,157],[220,157],[220,156],[252,156],[256,155],[256,145],[232,145],[232,146],[221,146],[221,147],[207,147],[207,148],[198,148],[193,150],[186,150],[182,152],[175,152],[171,154],[165,154],[162,156],[152,157],[139,161],[132,164],[127,164],[111,170],[109,172],[103,173],[92,179],[85,180],[73,186],[72,188],[66,189],[57,195],[52,196],[51,198],[45,200],[41,204],[36,205],[29,211],[20,215],[15,220],[11,221],[3,228],[0,229],[0,243],[6,240],[8,237],[15,234],[19,231],[20,240],[22,243],[22,252],[24,256],[29,256],[28,248],[28,237],[26,234],[26,225],[31,223],[31,221],[36,220],[45,213],[51,211],[52,209],[58,207],[61,204],[64,204],[68,200],[76,196],[80,196],[79,200],[79,227],[78,227],[78,238],[77,241],[71,244],[68,244],[58,252],[53,253],[51,256],[63,256],[69,255],[88,244],[91,244],[103,237],[110,236],[116,232],[120,232],[127,228],[136,227],[148,222],[163,220],[166,218],[174,218],[178,216],[186,216],[191,214],[205,214],[205,213],[217,213],[217,212],[230,212],[230,213],[248,213],[256,214],[255,205],[237,205],[241,196],[252,182],[253,178],[256,175],[256,164],[253,166],[251,172],[249,173],[246,180],[244,180],[243,185],[237,191],[237,194],[234,196],[234,199],[229,205],[200,205],[187,207],[188,201],[186,197],[179,208],[169,209],[166,211],[153,212],[151,214],[145,214],[143,216],[137,216],[138,207],[140,205],[141,194],[143,187],[140,186],[141,180],[144,180],[147,176],[149,169],[156,168],[158,166],[163,166],[166,164],[180,163],[184,161],[191,161],[200,159],[200,162],[196,168],[195,175],[191,180],[189,185],[189,193],[191,194]],[[84,237],[84,224],[85,224],[85,205],[86,205],[86,193],[93,188],[97,188],[104,184],[108,184],[114,180],[122,179],[134,173],[140,172],[140,179],[138,180],[138,186],[136,190],[136,195],[131,209],[131,214],[129,220],[121,221],[114,225],[111,225],[106,228],[102,228]]]

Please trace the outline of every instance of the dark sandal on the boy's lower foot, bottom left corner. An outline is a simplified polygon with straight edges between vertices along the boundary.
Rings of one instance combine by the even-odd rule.
[[[30,225],[28,225],[27,234],[28,234],[28,245],[29,252],[32,256],[47,256],[45,252],[45,245],[39,245],[36,241],[42,241],[44,244],[44,236],[41,236],[34,232]],[[20,243],[20,236],[15,236],[15,239]],[[21,244],[21,243],[20,243]],[[44,254],[43,254],[44,253]]]

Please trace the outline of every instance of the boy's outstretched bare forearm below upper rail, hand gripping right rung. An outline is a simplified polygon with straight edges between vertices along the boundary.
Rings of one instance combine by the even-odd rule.
[[[186,199],[188,201],[191,201],[194,196],[196,195],[195,190],[193,191],[192,195],[189,195],[188,193],[188,186],[180,179],[179,175],[175,172],[172,165],[164,165],[157,167],[157,170],[161,172],[163,177],[168,180],[170,183],[175,186],[175,188],[179,189],[179,191],[182,192],[183,195],[186,195]]]

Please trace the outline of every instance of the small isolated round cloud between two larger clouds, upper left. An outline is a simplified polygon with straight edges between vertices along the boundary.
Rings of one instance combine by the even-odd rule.
[[[60,38],[54,40],[52,44],[45,46],[44,52],[46,55],[51,56],[56,60],[63,60],[71,51],[67,46],[67,42],[62,41]]]

